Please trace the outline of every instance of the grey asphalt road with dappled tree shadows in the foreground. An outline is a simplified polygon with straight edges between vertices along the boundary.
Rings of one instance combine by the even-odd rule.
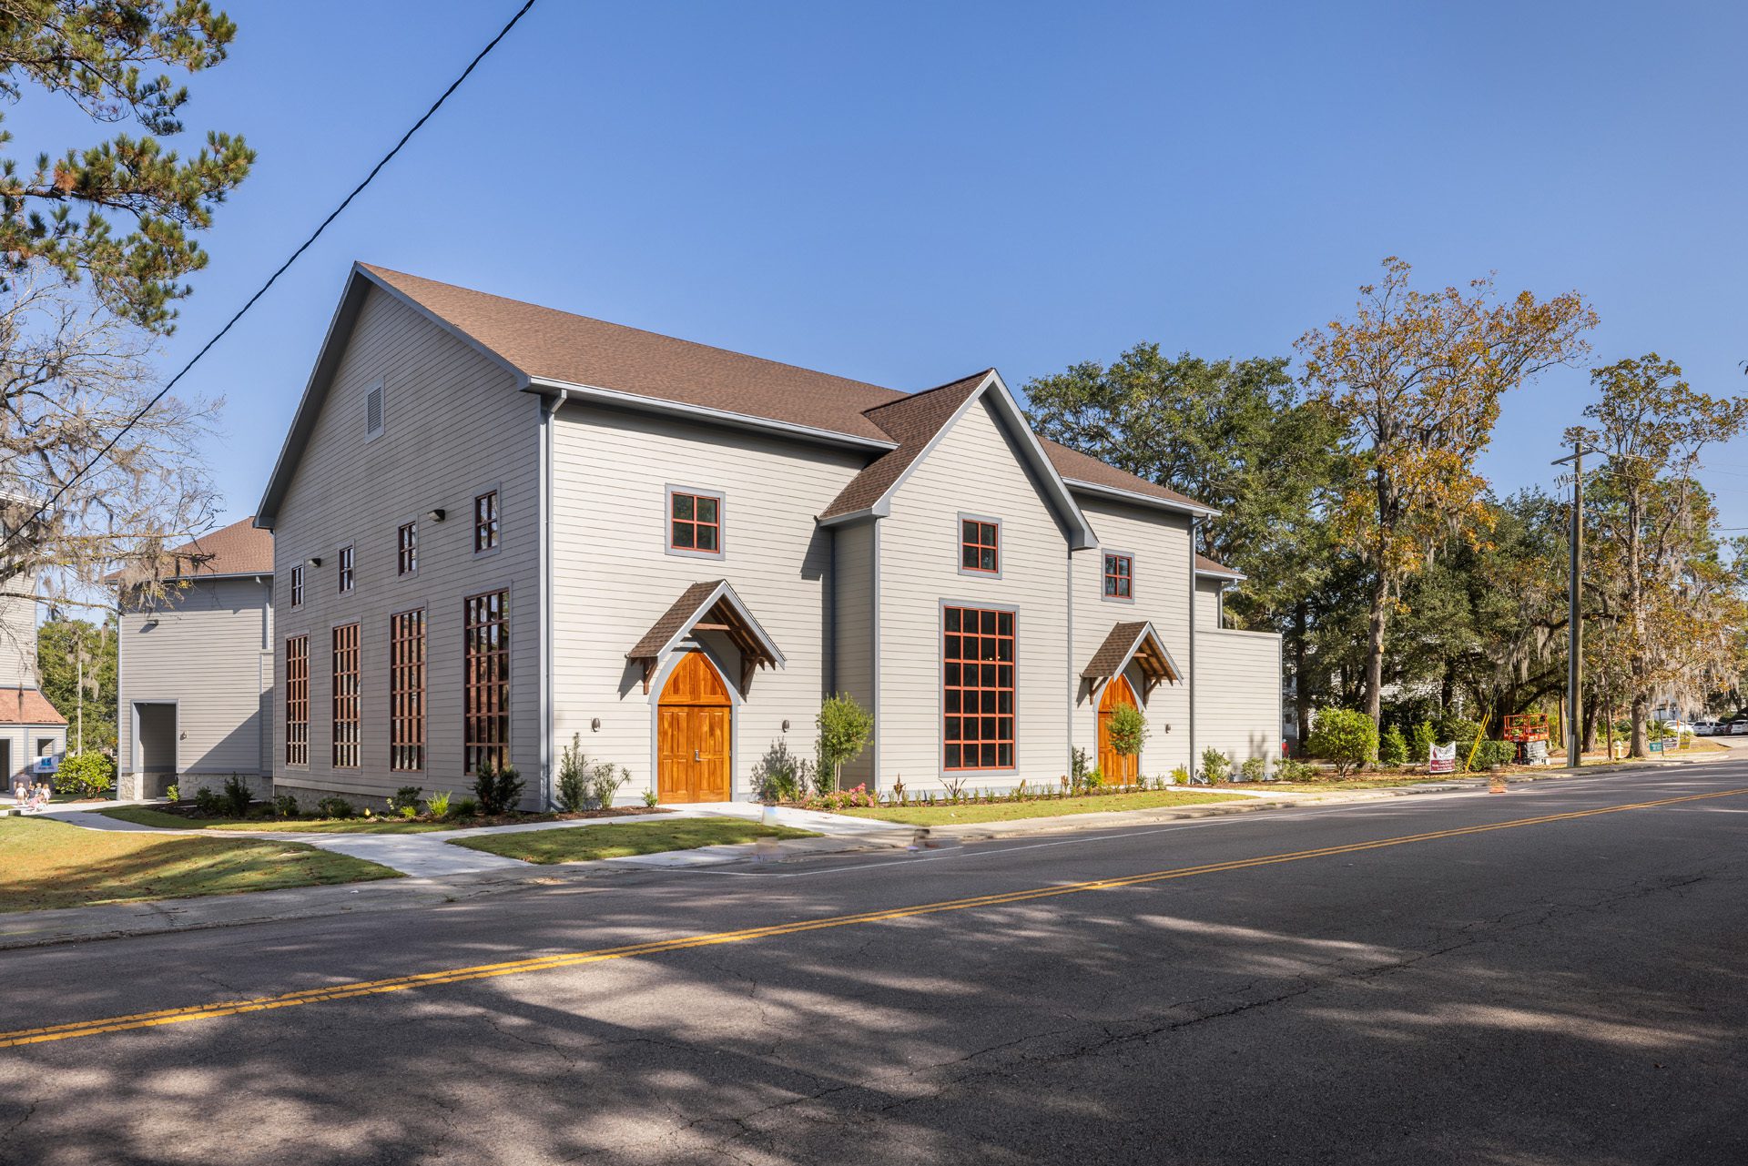
[[[0,1163],[1739,1166],[1745,876],[1731,760],[12,951]]]

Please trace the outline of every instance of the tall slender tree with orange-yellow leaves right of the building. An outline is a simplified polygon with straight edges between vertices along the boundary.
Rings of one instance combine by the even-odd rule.
[[[1488,482],[1474,470],[1493,439],[1500,399],[1589,351],[1596,311],[1578,292],[1500,301],[1493,278],[1467,290],[1418,292],[1412,267],[1384,259],[1351,320],[1299,337],[1304,381],[1346,423],[1363,472],[1334,512],[1337,540],[1372,572],[1365,711],[1379,718],[1384,633],[1402,582],[1451,537],[1474,544],[1491,524]]]

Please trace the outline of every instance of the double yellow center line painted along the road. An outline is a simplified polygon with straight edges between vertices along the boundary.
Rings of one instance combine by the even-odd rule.
[[[1748,788],[1720,790],[1715,794],[1689,794],[1685,797],[1664,797],[1652,802],[1631,802],[1626,806],[1605,806],[1601,809],[1577,809],[1540,818],[1516,818],[1512,822],[1495,822],[1489,825],[1467,825],[1453,830],[1428,830],[1425,834],[1402,834],[1372,843],[1348,843],[1344,846],[1320,846],[1316,850],[1294,850],[1280,855],[1262,855],[1257,858],[1234,858],[1232,862],[1210,862],[1197,867],[1175,867],[1171,871],[1150,871],[1147,874],[1126,874],[1091,883],[1061,883],[1056,886],[1035,886],[1002,895],[975,895],[972,899],[949,899],[944,902],[926,902],[911,907],[891,907],[888,911],[864,911],[860,914],[834,914],[820,920],[797,920],[794,923],[774,923],[771,927],[748,927],[738,932],[710,932],[704,935],[678,935],[673,939],[652,939],[642,944],[624,944],[621,947],[596,947],[593,951],[565,951],[526,960],[509,960],[505,963],[479,963],[465,968],[447,968],[440,972],[420,972],[414,975],[395,975],[374,981],[348,981],[329,988],[308,988],[276,996],[257,996],[253,1000],[220,1000],[215,1003],[196,1003],[182,1009],[159,1009],[156,1012],[135,1012],[131,1016],[110,1016],[94,1021],[73,1021],[70,1024],[47,1024],[42,1028],[21,1028],[0,1031],[0,1049],[17,1045],[45,1044],[51,1040],[73,1040],[75,1037],[101,1037],[105,1033],[122,1033],[135,1028],[157,1028],[161,1024],[187,1024],[189,1021],[210,1021],[220,1016],[243,1016],[246,1012],[269,1012],[273,1009],[292,1009],[302,1003],[327,1003],[330,1000],[355,1000],[360,996],[381,996],[409,988],[432,988],[437,984],[461,984],[495,975],[523,975],[528,972],[551,972],[556,968],[579,967],[584,963],[601,963],[605,960],[626,960],[629,956],[654,956],[668,951],[685,951],[687,947],[710,947],[715,944],[743,944],[755,939],[773,939],[778,935],[797,935],[801,932],[820,932],[832,927],[853,927],[860,923],[888,923],[891,920],[909,920],[921,914],[942,914],[947,911],[975,911],[979,907],[1005,907],[1037,899],[1054,899],[1058,895],[1082,895],[1086,892],[1117,890],[1122,886],[1143,886],[1147,883],[1164,883],[1168,879],[1187,879],[1197,874],[1218,874],[1222,871],[1245,871],[1248,867],[1266,867],[1278,862],[1302,862],[1306,858],[1327,858],[1330,855],[1355,855],[1365,850],[1383,850],[1384,846],[1404,846],[1407,843],[1432,843],[1444,837],[1463,837],[1465,834],[1488,834],[1491,830],[1510,830],[1524,825],[1545,825],[1550,822],[1571,822],[1577,818],[1594,818],[1598,815],[1626,813],[1629,809],[1652,809],[1657,806],[1678,806],[1711,797],[1736,797],[1748,794]]]

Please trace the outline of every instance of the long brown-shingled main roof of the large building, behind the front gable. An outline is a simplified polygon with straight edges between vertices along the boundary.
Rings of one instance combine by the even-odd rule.
[[[921,425],[940,402],[916,406],[918,416],[904,420],[911,393],[801,369],[778,360],[673,339],[656,332],[540,308],[502,295],[488,295],[423,276],[353,264],[346,290],[329,323],[327,337],[309,374],[290,434],[262,495],[257,524],[273,528],[290,486],[302,448],[315,430],[367,294],[378,288],[446,329],[456,339],[496,362],[528,392],[566,392],[573,399],[603,400],[622,407],[678,413],[722,425],[787,432],[797,437],[869,451],[904,446],[893,428]],[[972,379],[972,378],[967,378]],[[940,393],[963,381],[944,385]],[[1003,386],[1003,395],[1012,400]],[[918,393],[925,395],[925,393]],[[1017,413],[1017,406],[1014,406]],[[886,413],[883,421],[877,414]],[[1030,434],[1030,425],[1021,421]],[[937,427],[939,428],[939,427]],[[925,439],[926,444],[926,439]],[[1054,442],[1031,437],[1047,465],[1044,477],[1073,489],[1126,498],[1141,505],[1213,514],[1183,495],[1105,465]],[[916,460],[897,460],[862,489],[874,493],[879,477],[902,477]],[[876,458],[876,465],[884,458]],[[902,463],[902,465],[900,465]],[[872,467],[869,467],[872,468]],[[1073,502],[1068,503],[1070,509]]]

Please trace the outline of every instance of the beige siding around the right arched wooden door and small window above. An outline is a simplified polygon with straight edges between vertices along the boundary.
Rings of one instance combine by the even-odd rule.
[[[1187,514],[1136,507],[1096,495],[1079,495],[1082,512],[1099,545],[1075,552],[1075,745],[1098,766],[1098,704],[1103,687],[1080,680],[1080,670],[1098,652],[1112,624],[1150,621],[1166,650],[1185,677],[1162,684],[1147,699],[1147,745],[1140,771],[1162,778],[1189,762],[1189,657],[1190,657],[1190,519]],[[1105,551],[1133,556],[1133,600],[1105,600]],[[1141,673],[1131,666],[1127,680],[1141,694]]]

